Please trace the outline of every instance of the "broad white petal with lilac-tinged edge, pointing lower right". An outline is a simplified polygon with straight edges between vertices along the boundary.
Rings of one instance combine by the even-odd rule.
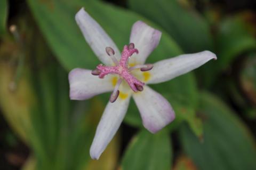
[[[148,86],[135,93],[133,99],[140,111],[145,128],[151,133],[156,133],[175,118],[171,104],[159,93]]]

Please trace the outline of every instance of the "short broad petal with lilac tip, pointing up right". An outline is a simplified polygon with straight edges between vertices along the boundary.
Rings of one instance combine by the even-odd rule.
[[[143,64],[148,55],[155,49],[161,38],[161,31],[156,30],[142,21],[137,21],[132,26],[130,43],[134,43],[139,54],[134,54],[131,59],[137,64]]]

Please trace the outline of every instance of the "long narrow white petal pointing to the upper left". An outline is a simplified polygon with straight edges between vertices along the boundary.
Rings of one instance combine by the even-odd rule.
[[[93,52],[98,56],[100,61],[108,66],[113,65],[113,61],[106,53],[106,47],[114,49],[115,56],[118,60],[121,58],[120,52],[113,40],[101,28],[99,23],[85,12],[83,8],[77,12],[75,19],[86,39],[86,42],[91,46]]]

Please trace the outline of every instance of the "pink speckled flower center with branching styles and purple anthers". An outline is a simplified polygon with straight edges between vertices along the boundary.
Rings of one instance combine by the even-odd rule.
[[[129,60],[130,56],[132,56],[132,54],[134,54],[134,53],[137,53],[137,54],[139,53],[137,48],[134,48],[133,43],[130,43],[129,45],[124,46],[124,49],[123,49],[123,52],[121,55],[121,59],[119,62],[117,61],[117,59],[114,56],[115,52],[114,52],[113,48],[106,47],[106,52],[110,56],[111,60],[115,63],[115,66],[103,66],[102,64],[99,64],[97,66],[97,69],[92,71],[92,75],[97,75],[97,76],[99,76],[99,78],[104,78],[108,74],[119,75],[120,78],[118,79],[118,81],[116,83],[116,86],[114,88],[113,93],[110,96],[109,101],[110,102],[116,101],[116,99],[118,98],[118,95],[119,95],[118,87],[121,85],[123,80],[125,80],[127,82],[127,84],[131,87],[131,89],[134,92],[143,91],[143,86],[145,85],[145,83],[141,82],[136,77],[134,77],[131,74],[131,71],[134,69],[139,69],[139,68],[141,71],[148,71],[153,68],[153,64],[136,65],[136,66],[128,68],[127,65],[128,65],[128,60]]]

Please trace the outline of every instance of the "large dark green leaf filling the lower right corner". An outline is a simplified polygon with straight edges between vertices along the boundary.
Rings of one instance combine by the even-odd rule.
[[[254,169],[255,140],[236,114],[218,98],[202,93],[198,114],[204,119],[199,142],[187,126],[180,129],[183,149],[199,169]]]

